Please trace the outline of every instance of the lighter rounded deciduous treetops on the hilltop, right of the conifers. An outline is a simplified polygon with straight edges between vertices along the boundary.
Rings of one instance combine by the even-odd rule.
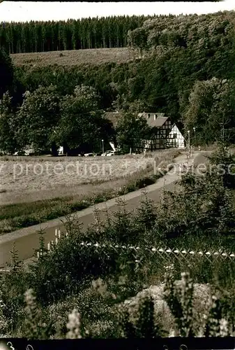
[[[150,18],[128,32],[128,45],[141,56],[149,51],[160,55],[162,50],[192,47],[212,56],[234,38],[234,20],[234,11]]]

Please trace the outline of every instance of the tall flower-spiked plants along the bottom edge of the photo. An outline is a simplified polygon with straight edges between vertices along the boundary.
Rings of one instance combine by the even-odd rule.
[[[96,283],[98,282],[98,284]],[[98,288],[97,288],[98,286]],[[109,295],[102,280],[93,281],[96,288],[93,297],[95,302],[106,299],[110,307]],[[204,304],[202,299],[200,305],[204,309],[199,314],[195,306],[194,284],[190,274],[182,273],[181,280],[175,281],[172,274],[166,274],[164,286],[164,300],[167,302],[165,311],[169,309],[172,315],[172,328],[164,323],[159,308],[151,294],[144,293],[137,300],[135,309],[129,304],[119,303],[112,307],[112,321],[108,320],[104,334],[102,322],[98,326],[89,327],[83,322],[82,314],[77,308],[63,315],[62,323],[57,322],[56,334],[53,335],[53,318],[45,322],[45,315],[36,301],[33,290],[25,293],[26,318],[21,328],[22,335],[28,339],[80,339],[87,337],[124,337],[124,338],[156,338],[167,336],[180,337],[227,337],[233,336],[234,328],[234,300],[230,295],[222,293],[221,290],[211,290]],[[113,297],[117,297],[114,295]],[[111,304],[112,305],[112,304]],[[79,309],[81,309],[78,306]],[[101,309],[100,309],[101,311]],[[162,311],[163,312],[163,311]],[[61,317],[60,315],[57,315]],[[67,321],[66,321],[67,320]],[[1,331],[3,330],[4,318],[1,314]],[[100,320],[99,320],[100,321]],[[86,324],[86,325],[85,325]],[[167,329],[168,328],[168,329]]]

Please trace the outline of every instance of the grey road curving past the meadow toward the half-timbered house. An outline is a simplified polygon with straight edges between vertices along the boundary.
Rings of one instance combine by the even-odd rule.
[[[160,193],[163,187],[167,190],[174,190],[175,182],[181,177],[182,165],[198,165],[199,163],[201,164],[205,162],[206,158],[202,155],[202,153],[194,153],[190,160],[187,160],[186,154],[180,155],[175,159],[174,168],[165,176],[162,176],[162,178],[156,181],[156,183],[146,187],[146,193],[152,200],[158,202],[160,200]],[[125,200],[126,208],[128,210],[132,210],[139,206],[142,193],[143,190],[137,190],[121,196],[119,199]],[[105,218],[105,209],[109,209],[109,211],[116,211],[118,209],[116,199],[114,198],[107,202],[96,204],[96,206],[78,211],[71,216],[76,216],[79,218],[79,221],[81,221],[83,225],[83,229],[86,229],[93,222],[93,211],[95,208],[100,211],[101,219]],[[29,259],[33,256],[34,249],[38,248],[38,230],[45,230],[45,244],[47,244],[49,241],[54,240],[54,232],[56,228],[60,229],[61,232],[64,232],[65,228],[62,221],[65,220],[65,217],[56,218],[54,220],[47,221],[47,223],[41,223],[39,225],[34,225],[29,228],[23,228],[22,230],[17,230],[6,235],[2,235],[0,237],[0,267],[5,266],[6,262],[10,261],[10,251],[12,250],[14,241],[20,260]]]

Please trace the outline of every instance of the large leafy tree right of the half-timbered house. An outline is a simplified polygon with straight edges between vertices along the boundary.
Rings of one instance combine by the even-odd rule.
[[[185,130],[197,127],[200,143],[221,139],[221,130],[234,127],[234,83],[212,78],[197,81],[183,116]]]

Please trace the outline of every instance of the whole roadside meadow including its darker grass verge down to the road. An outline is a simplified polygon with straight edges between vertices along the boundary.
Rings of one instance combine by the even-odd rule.
[[[71,214],[154,183],[153,161],[162,169],[178,150],[150,157],[29,158],[0,160],[0,234]],[[95,174],[96,172],[96,174]]]

